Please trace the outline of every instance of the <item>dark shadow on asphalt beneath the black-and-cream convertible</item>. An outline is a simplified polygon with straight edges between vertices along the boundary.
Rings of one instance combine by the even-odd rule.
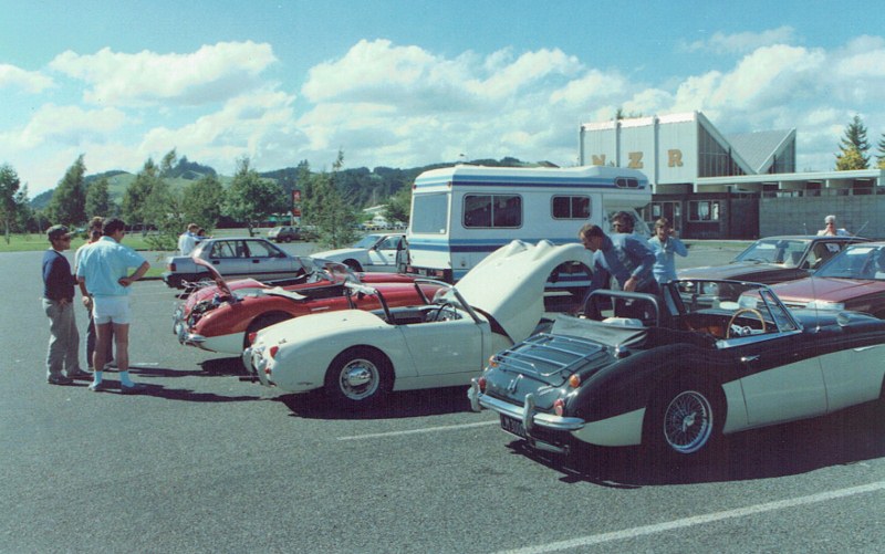
[[[730,435],[715,460],[663,464],[639,447],[583,447],[570,456],[539,451],[525,441],[508,445],[562,473],[564,482],[633,489],[662,484],[733,482],[808,473],[885,457],[881,408],[864,405],[840,412]]]

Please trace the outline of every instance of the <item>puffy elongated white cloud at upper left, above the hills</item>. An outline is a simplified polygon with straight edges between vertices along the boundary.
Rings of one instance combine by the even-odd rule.
[[[187,54],[137,54],[105,48],[95,54],[59,54],[50,67],[91,85],[84,101],[110,106],[158,102],[200,105],[223,101],[256,86],[277,58],[270,44],[219,42]]]

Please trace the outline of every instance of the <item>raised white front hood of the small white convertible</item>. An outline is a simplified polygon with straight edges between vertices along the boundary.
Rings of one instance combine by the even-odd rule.
[[[591,265],[582,244],[537,245],[522,241],[503,245],[471,269],[456,288],[471,306],[478,307],[504,328],[513,342],[534,331],[544,314],[544,285],[558,265],[580,261]]]

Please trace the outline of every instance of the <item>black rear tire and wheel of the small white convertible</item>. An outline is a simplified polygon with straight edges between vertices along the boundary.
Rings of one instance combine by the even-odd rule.
[[[351,407],[377,404],[394,385],[391,360],[374,348],[348,348],[329,365],[325,394],[334,403]]]

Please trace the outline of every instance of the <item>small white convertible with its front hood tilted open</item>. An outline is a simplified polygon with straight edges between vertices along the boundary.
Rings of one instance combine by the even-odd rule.
[[[445,285],[433,302],[298,317],[260,331],[243,352],[262,384],[305,393],[325,388],[362,405],[391,390],[467,385],[489,356],[538,327],[544,283],[562,263],[587,262],[581,244],[513,241]],[[416,281],[420,282],[420,281]],[[376,294],[354,284],[354,294]]]

